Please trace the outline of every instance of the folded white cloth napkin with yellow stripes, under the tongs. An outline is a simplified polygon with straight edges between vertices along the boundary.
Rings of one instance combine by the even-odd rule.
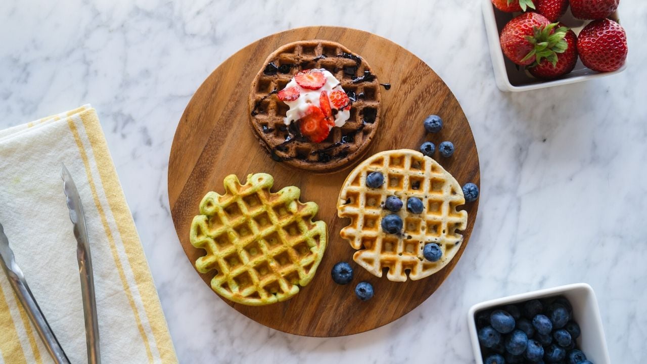
[[[133,217],[91,106],[0,131],[0,223],[72,363],[86,363],[76,239],[61,162],[85,211],[104,363],[177,363]],[[0,273],[0,363],[52,363]]]

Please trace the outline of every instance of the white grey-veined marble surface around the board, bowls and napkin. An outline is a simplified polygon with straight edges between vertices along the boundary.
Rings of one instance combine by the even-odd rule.
[[[8,0],[0,3],[0,128],[98,110],[182,363],[472,363],[479,301],[571,282],[597,291],[614,363],[647,359],[647,3],[622,0],[622,74],[521,94],[496,89],[479,2]],[[198,279],[178,243],[168,154],[193,92],[248,43],[344,25],[427,62],[470,120],[481,201],[465,255],[430,299],[351,337],[283,334]]]

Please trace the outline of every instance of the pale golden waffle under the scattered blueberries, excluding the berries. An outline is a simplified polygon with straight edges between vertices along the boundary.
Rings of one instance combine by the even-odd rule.
[[[384,175],[380,188],[366,187],[366,176],[373,171]],[[397,212],[402,218],[402,234],[382,231],[381,219],[391,213],[384,209],[388,196],[402,199],[404,207]],[[406,199],[422,200],[422,214],[406,210]],[[338,201],[338,216],[351,223],[341,231],[342,238],[358,249],[353,260],[377,277],[388,269],[387,277],[405,281],[428,277],[444,267],[458,251],[465,230],[467,212],[456,210],[465,198],[457,181],[430,157],[413,150],[380,152],[366,159],[349,174]],[[440,245],[443,257],[437,262],[424,259],[427,243]]]

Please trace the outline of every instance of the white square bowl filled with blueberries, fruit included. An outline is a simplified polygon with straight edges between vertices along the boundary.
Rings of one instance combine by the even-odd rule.
[[[586,283],[522,293],[470,308],[477,364],[609,364],[602,319]]]

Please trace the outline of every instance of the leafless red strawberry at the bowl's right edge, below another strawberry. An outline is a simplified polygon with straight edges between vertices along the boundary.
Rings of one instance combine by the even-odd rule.
[[[577,51],[582,63],[593,71],[615,71],[627,59],[627,35],[613,20],[591,21],[577,38]]]

